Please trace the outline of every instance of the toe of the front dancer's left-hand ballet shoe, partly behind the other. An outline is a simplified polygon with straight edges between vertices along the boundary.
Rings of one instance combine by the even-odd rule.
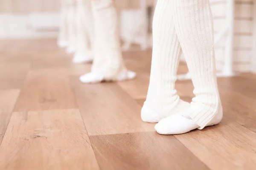
[[[157,123],[160,121],[159,115],[146,106],[143,106],[141,109],[141,119],[143,122],[149,123]]]

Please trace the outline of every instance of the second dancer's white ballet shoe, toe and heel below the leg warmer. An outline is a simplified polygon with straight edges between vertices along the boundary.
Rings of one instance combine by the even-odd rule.
[[[126,70],[120,73],[116,78],[113,77],[112,79],[105,79],[103,75],[92,72],[82,75],[79,79],[83,83],[98,83],[102,81],[124,81],[134,79],[134,77],[136,77],[136,73]]]

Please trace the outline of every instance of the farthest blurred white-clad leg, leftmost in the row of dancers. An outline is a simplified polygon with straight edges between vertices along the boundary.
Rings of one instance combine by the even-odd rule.
[[[61,0],[61,23],[58,35],[58,46],[60,48],[68,46],[67,38],[67,3],[66,0]]]

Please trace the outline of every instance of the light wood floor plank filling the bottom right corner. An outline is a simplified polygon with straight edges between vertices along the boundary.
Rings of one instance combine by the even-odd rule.
[[[175,137],[212,170],[256,167],[256,133],[235,122],[222,122]]]

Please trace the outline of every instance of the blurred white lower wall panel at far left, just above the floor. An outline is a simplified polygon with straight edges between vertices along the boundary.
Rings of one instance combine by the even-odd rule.
[[[0,14],[0,39],[58,36],[58,14]]]

